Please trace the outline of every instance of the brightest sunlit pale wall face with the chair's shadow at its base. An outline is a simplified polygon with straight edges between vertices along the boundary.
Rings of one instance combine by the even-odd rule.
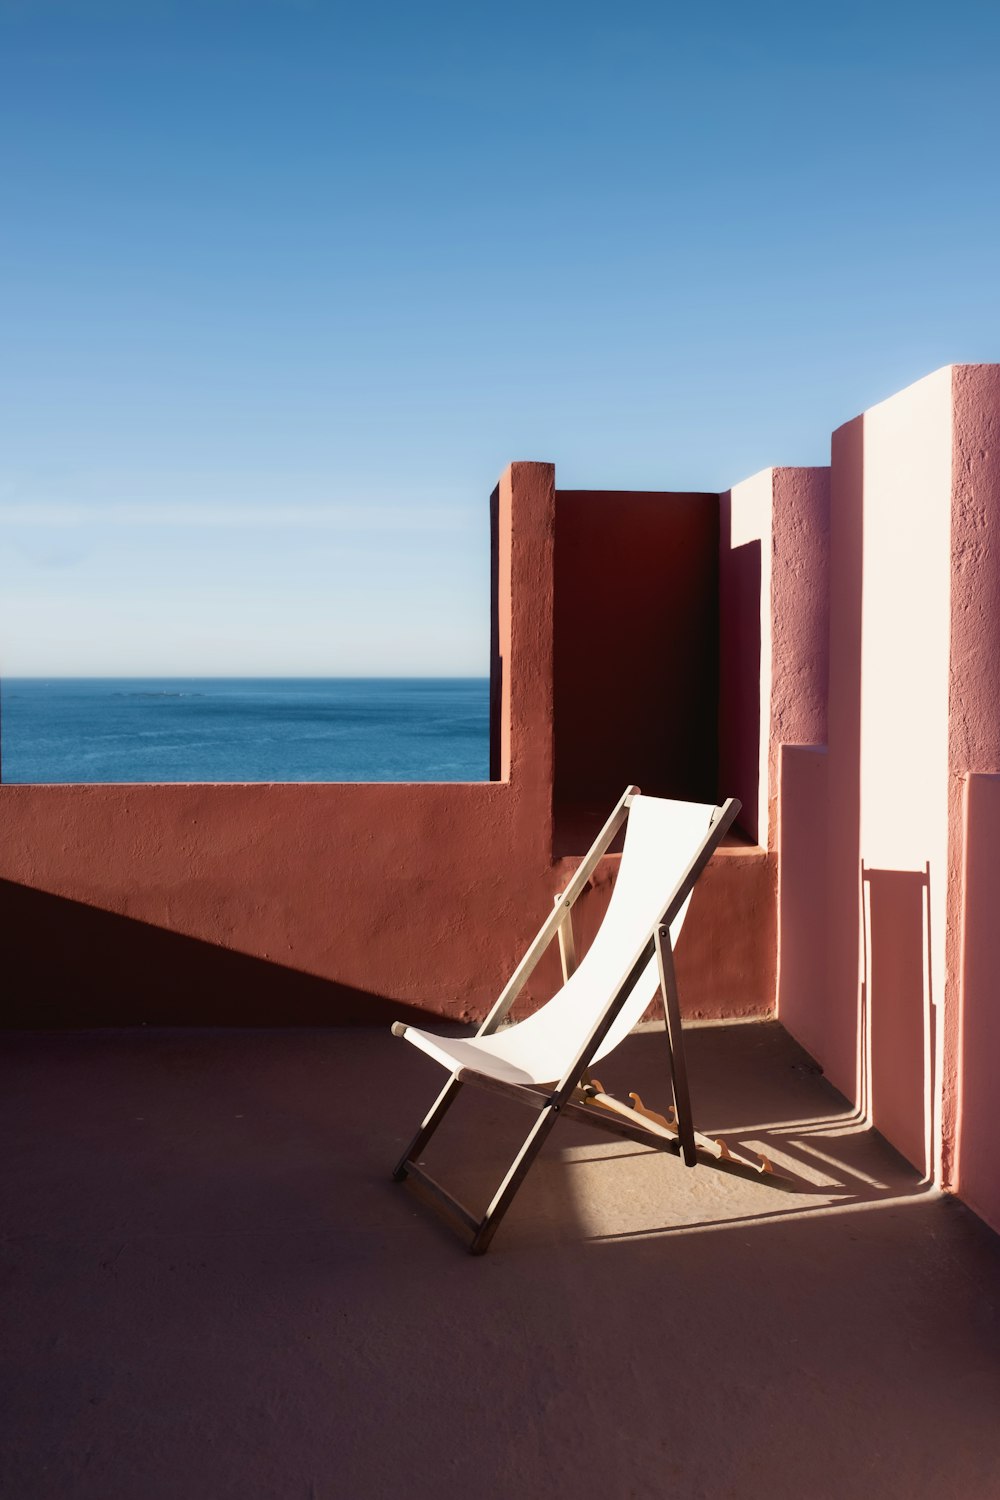
[[[861,604],[871,1107],[928,1172],[945,998],[951,525],[952,370],[943,369],[865,412]]]

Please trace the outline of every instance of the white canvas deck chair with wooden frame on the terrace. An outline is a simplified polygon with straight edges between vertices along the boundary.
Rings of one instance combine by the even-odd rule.
[[[561,1114],[681,1155],[690,1167],[708,1161],[723,1172],[795,1190],[796,1184],[774,1173],[765,1158],[750,1162],[733,1156],[721,1142],[699,1136],[691,1120],[673,945],[694,885],[739,807],[736,798],[721,807],[672,802],[642,796],[639,788],[630,786],[568,886],[556,897],[555,910],[477,1035],[439,1036],[402,1022],[393,1026],[393,1035],[405,1036],[450,1072],[393,1176],[397,1182],[412,1176],[423,1184],[471,1233],[472,1254],[487,1250]],[[591,948],[576,968],[573,903],[625,819],[625,848],[610,904]],[[556,936],[565,981],[562,988],[534,1016],[499,1030],[532,969]],[[642,1018],[657,990],[664,1008],[673,1120],[646,1110],[639,1095],[630,1095],[636,1106],[633,1108],[604,1094],[600,1083],[585,1082],[591,1065],[612,1052]],[[481,1220],[417,1162],[465,1083],[510,1095],[537,1110],[534,1126]]]

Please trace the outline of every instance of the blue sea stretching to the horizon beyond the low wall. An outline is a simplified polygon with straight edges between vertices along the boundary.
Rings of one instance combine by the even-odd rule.
[[[3,782],[486,782],[486,678],[7,678]]]

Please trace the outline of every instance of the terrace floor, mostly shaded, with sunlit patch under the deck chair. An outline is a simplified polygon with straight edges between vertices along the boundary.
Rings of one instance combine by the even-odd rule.
[[[1000,1242],[777,1023],[688,1042],[814,1191],[567,1124],[475,1260],[388,1180],[442,1076],[385,1030],[7,1035],[0,1492],[996,1500]],[[601,1080],[663,1107],[661,1048]],[[486,1202],[529,1119],[426,1160]]]

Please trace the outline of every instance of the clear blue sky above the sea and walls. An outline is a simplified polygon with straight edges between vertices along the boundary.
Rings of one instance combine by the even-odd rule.
[[[483,674],[487,496],[1000,360],[1000,6],[0,0],[0,669]]]

